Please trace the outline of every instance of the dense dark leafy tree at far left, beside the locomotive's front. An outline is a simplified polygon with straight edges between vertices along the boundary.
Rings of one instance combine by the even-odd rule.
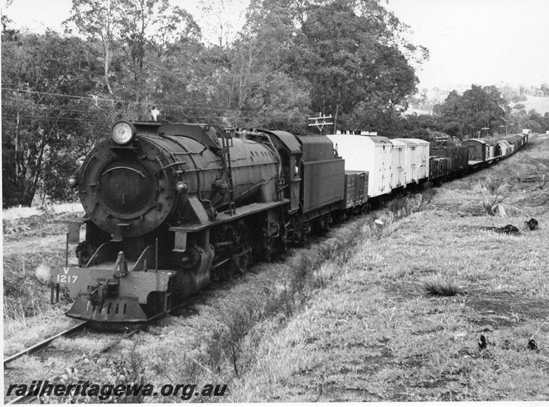
[[[73,163],[104,130],[105,111],[90,100],[70,97],[94,89],[101,67],[82,40],[19,34],[2,38],[2,135],[4,204],[30,205],[36,190],[58,181],[57,169]]]

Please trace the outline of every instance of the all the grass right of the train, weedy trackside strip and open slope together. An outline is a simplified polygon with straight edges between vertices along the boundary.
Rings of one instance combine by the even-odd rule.
[[[255,266],[108,361],[70,368],[84,380],[129,369],[132,380],[157,385],[224,383],[229,402],[549,399],[549,196],[519,181],[532,167],[526,158],[548,152],[546,138],[533,139],[434,196],[351,220]],[[503,222],[484,213],[477,185],[486,176],[508,183],[509,202],[527,216]],[[530,217],[539,230],[524,229]],[[506,223],[521,235],[481,229]],[[460,294],[428,295],[425,283]],[[479,349],[480,335],[487,349]],[[530,338],[539,352],[528,349]]]

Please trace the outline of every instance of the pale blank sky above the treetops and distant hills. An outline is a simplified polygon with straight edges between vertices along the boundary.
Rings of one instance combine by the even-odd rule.
[[[172,0],[196,15],[200,0]],[[242,3],[242,0],[239,0]],[[245,2],[244,2],[245,3]],[[430,51],[418,89],[549,82],[548,0],[382,0],[408,38]],[[12,27],[60,31],[71,0],[13,0],[2,11]],[[242,13],[238,17],[242,16]]]

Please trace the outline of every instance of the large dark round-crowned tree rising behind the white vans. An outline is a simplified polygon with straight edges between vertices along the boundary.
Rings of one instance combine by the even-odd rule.
[[[399,38],[402,29],[377,1],[310,4],[298,40],[312,110],[331,112],[334,128],[342,115],[347,126],[383,126],[404,111],[417,84],[409,57],[419,49]],[[372,111],[375,119],[361,119]]]

